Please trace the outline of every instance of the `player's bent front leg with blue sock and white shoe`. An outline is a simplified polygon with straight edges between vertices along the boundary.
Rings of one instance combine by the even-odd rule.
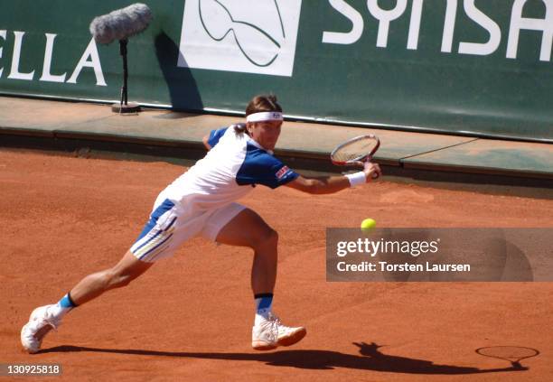
[[[252,347],[258,350],[290,346],[305,337],[305,328],[283,325],[272,312],[273,290],[277,280],[278,234],[252,210],[242,210],[223,227],[217,242],[254,250],[251,288],[256,298],[256,318]]]

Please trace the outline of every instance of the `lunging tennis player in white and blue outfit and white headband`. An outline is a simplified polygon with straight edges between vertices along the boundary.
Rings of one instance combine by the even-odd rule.
[[[380,168],[366,163],[363,171],[345,176],[305,178],[273,156],[282,123],[277,98],[258,96],[246,108],[246,124],[214,130],[204,137],[208,154],[159,194],[144,230],[117,265],[86,276],[58,303],[31,313],[21,331],[23,349],[37,352],[44,336],[58,328],[72,309],[110,289],[126,286],[196,235],[253,249],[254,349],[275,349],[303,339],[304,327],[288,327],[272,311],[277,232],[235,200],[257,184],[272,189],[286,185],[313,194],[332,193],[371,182],[373,176],[380,175]]]

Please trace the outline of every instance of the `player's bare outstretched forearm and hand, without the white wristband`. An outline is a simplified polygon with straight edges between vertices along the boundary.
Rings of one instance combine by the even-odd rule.
[[[376,163],[365,163],[362,171],[365,176],[365,182],[371,182],[373,179],[380,177],[382,172],[380,166]],[[362,179],[361,179],[362,181]],[[312,194],[325,194],[342,191],[351,187],[350,178],[345,175],[323,176],[316,178],[305,178],[298,176],[294,181],[286,183],[286,186],[298,191],[304,191]]]

